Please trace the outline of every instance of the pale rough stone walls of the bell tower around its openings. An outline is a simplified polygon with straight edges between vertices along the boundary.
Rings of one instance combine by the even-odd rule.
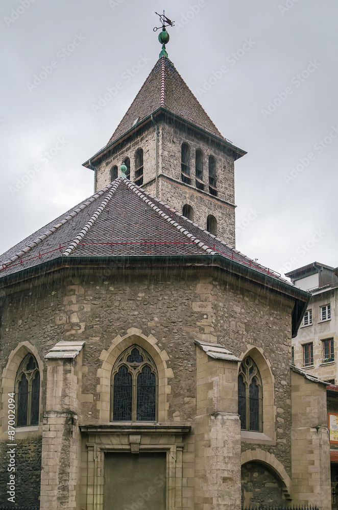
[[[143,148],[143,185],[142,187],[155,194],[155,126],[142,132],[136,139],[127,140],[118,145],[113,155],[107,156],[96,170],[96,189],[102,189],[110,183],[110,169],[118,168],[127,156],[130,158],[130,180],[135,180],[135,153]],[[191,185],[181,180],[181,145],[185,142],[190,147]],[[195,155],[196,150],[203,151],[203,182],[204,190],[196,188]],[[208,158],[216,159],[216,180],[218,196],[209,193]],[[234,160],[225,154],[221,146],[203,135],[190,130],[182,131],[176,127],[159,123],[158,129],[158,198],[170,204],[182,213],[183,206],[188,204],[194,210],[194,221],[207,227],[207,216],[213,215],[218,222],[217,236],[231,246],[235,246],[235,204],[234,204]]]

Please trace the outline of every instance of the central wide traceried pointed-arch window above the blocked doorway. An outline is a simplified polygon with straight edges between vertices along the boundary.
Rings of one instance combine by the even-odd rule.
[[[156,421],[157,370],[138,345],[126,349],[111,373],[111,420]]]

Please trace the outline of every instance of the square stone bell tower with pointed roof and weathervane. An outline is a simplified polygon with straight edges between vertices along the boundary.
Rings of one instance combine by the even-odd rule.
[[[107,145],[84,166],[99,190],[127,177],[188,219],[235,246],[234,161],[246,152],[216,128],[168,59],[159,59]]]

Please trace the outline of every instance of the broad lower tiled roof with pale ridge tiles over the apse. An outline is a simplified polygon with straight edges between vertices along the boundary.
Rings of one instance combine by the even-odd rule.
[[[286,282],[170,206],[118,177],[0,257],[0,279],[59,257],[221,254]],[[287,282],[288,283],[288,282]]]

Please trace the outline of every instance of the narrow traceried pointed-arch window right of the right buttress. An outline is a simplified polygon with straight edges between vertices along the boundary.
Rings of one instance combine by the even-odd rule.
[[[262,381],[255,362],[248,356],[238,373],[240,428],[261,432],[263,428]]]

